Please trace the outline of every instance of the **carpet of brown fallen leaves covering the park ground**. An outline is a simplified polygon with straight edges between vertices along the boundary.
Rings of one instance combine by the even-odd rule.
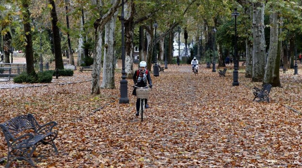
[[[262,83],[250,82],[241,67],[240,84],[232,87],[233,70],[227,68],[226,77],[206,66],[194,76],[189,65],[151,74],[143,122],[135,116],[131,79],[130,103],[118,103],[120,70],[116,89],[101,89],[100,95],[90,95],[91,82],[2,89],[0,122],[32,113],[40,124],[58,123],[59,154],[39,146],[32,157],[37,167],[302,166],[302,69],[299,75],[280,72],[283,88],[271,89],[270,103],[258,103],[252,88]],[[1,133],[0,158],[6,157]]]

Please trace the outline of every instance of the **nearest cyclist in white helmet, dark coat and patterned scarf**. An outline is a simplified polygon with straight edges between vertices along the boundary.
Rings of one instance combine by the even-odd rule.
[[[137,69],[137,71],[133,74],[133,82],[135,86],[137,87],[146,87],[147,81],[149,83],[149,87],[152,88],[152,80],[150,77],[149,71],[146,69],[147,63],[145,61],[140,62],[140,68]],[[136,96],[136,88],[133,89],[132,92],[133,95]],[[147,104],[147,99],[145,99],[145,108],[149,108],[149,105]],[[139,115],[140,110],[140,99],[137,99],[136,101],[136,116]]]

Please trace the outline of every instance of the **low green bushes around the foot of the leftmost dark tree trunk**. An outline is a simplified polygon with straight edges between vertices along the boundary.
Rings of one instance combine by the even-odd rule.
[[[38,72],[37,76],[28,75],[26,72],[14,78],[15,83],[50,83],[53,79],[52,73],[49,71]]]

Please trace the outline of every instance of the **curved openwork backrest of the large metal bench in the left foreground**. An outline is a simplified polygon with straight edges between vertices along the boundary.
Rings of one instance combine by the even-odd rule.
[[[12,118],[7,122],[0,124],[0,127],[2,128],[5,139],[8,144],[10,143],[9,141],[11,139],[14,140],[16,138],[15,136],[21,133],[22,131],[29,129],[35,130],[33,124],[28,119],[27,115],[20,115],[15,118]]]

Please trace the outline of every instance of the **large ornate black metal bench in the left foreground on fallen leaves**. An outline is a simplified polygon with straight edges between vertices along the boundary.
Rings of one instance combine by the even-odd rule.
[[[39,125],[31,114],[20,115],[0,124],[8,146],[6,167],[14,160],[26,160],[34,166],[31,156],[40,144],[50,144],[58,153],[53,142],[58,132],[52,130],[56,125],[54,121]]]

